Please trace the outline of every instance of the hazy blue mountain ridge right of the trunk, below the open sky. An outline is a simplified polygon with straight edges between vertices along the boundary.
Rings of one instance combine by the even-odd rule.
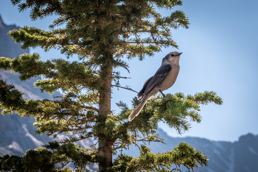
[[[158,129],[157,133],[163,138],[166,144],[153,142],[149,146],[152,152],[166,152],[173,150],[180,142],[186,142],[200,150],[209,158],[207,167],[198,167],[193,171],[201,172],[248,172],[257,171],[256,162],[258,159],[258,135],[247,134],[241,136],[236,142],[211,141],[198,137],[170,137],[163,130]],[[139,156],[139,149],[130,146],[129,150],[122,153]],[[172,166],[173,167],[173,166]],[[175,166],[174,166],[175,167]],[[174,168],[173,167],[173,168]],[[186,168],[180,167],[181,171]]]

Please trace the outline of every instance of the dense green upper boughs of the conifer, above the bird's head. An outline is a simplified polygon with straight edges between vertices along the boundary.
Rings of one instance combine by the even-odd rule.
[[[31,19],[41,19],[56,14],[50,25],[51,31],[35,27],[22,27],[9,32],[22,48],[40,46],[46,51],[60,48],[70,57],[78,54],[90,58],[94,63],[106,59],[103,54],[114,54],[115,58],[153,55],[160,47],[178,47],[171,39],[171,28],[188,28],[188,18],[182,11],[174,11],[162,17],[157,8],[172,10],[182,1],[22,1],[12,0],[20,11],[31,10]],[[54,29],[55,26],[64,28]],[[149,34],[149,36],[145,36]],[[94,57],[94,58],[93,58]]]

